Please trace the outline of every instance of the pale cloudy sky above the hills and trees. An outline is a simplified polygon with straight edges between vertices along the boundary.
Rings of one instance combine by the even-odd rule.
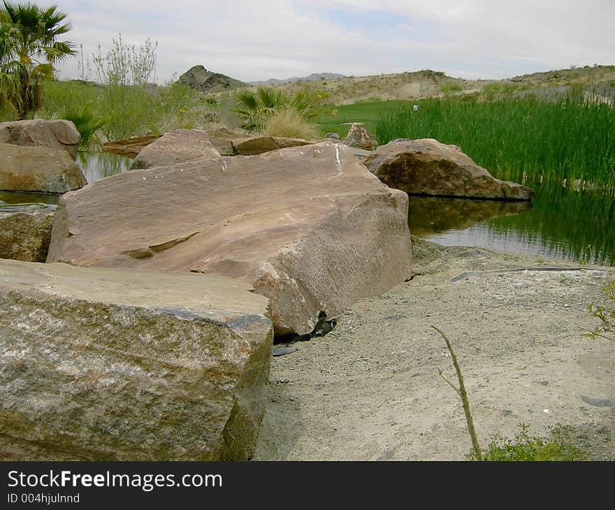
[[[243,81],[431,68],[458,78],[615,64],[615,0],[50,0],[85,57],[157,46],[156,78],[202,64]],[[79,78],[77,59],[61,78]],[[91,77],[95,79],[94,76]]]

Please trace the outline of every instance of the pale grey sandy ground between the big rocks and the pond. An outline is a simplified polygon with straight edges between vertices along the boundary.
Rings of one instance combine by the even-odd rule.
[[[521,270],[547,265],[578,270]],[[599,270],[595,270],[599,269]],[[477,272],[452,282],[464,272]],[[325,337],[273,358],[254,460],[466,460],[470,438],[437,326],[451,340],[483,448],[500,432],[574,427],[588,460],[615,460],[615,342],[588,304],[615,268],[414,239],[414,273],[361,300]],[[598,400],[592,400],[598,399]]]

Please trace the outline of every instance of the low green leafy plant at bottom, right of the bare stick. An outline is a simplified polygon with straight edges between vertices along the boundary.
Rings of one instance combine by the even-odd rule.
[[[491,442],[482,452],[483,460],[489,461],[547,461],[547,460],[584,460],[584,453],[574,446],[572,427],[556,425],[549,428],[549,437],[530,436],[529,425],[520,423],[521,431],[514,439],[502,437],[499,433],[491,437]],[[472,451],[468,455],[475,459]]]

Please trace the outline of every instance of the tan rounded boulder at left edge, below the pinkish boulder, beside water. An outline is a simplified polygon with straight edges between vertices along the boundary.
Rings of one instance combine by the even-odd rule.
[[[65,150],[0,143],[0,190],[63,194],[87,180]]]

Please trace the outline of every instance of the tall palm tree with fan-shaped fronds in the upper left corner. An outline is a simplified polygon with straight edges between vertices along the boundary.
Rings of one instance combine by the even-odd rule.
[[[19,119],[43,103],[43,80],[54,78],[57,61],[73,56],[75,45],[57,41],[71,30],[57,6],[41,8],[3,0],[0,8],[0,90]]]

